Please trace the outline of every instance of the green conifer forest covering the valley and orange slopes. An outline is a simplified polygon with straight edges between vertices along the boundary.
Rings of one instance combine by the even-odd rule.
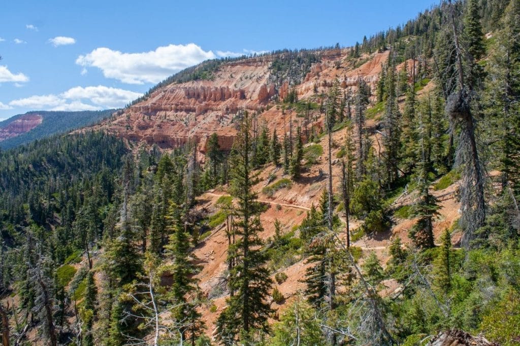
[[[297,85],[327,49],[282,51],[273,78]],[[0,151],[3,346],[29,345],[31,333],[51,346],[413,346],[450,329],[520,345],[520,0],[443,2],[365,37],[347,59],[359,66],[386,51],[375,88],[336,80],[315,103],[294,89],[276,101],[322,127],[305,118],[270,131],[240,109],[232,149],[214,133],[202,162],[196,142],[162,150],[101,131]],[[161,85],[209,78],[224,63]],[[318,157],[319,204],[291,231],[275,222],[262,237],[260,174],[282,172],[268,196]],[[436,239],[434,191],[448,186],[460,217]],[[213,189],[226,193],[207,215],[197,205]],[[413,203],[396,209],[405,194]],[[414,220],[412,242],[393,238],[385,262],[353,245],[398,217]],[[217,226],[227,241],[222,309],[203,294],[194,255]],[[284,261],[296,255],[308,265],[305,289],[275,311],[288,298],[277,286]],[[387,281],[399,289],[382,294]]]

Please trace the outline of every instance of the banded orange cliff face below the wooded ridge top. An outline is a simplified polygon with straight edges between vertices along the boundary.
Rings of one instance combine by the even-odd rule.
[[[129,141],[156,144],[162,148],[174,148],[197,143],[201,154],[205,152],[207,137],[217,133],[219,145],[231,149],[236,134],[234,118],[239,109],[257,112],[279,135],[293,126],[302,124],[302,117],[288,110],[285,112],[277,99],[287,96],[294,88],[298,99],[313,99],[326,93],[339,80],[343,88],[355,92],[359,78],[375,85],[381,72],[381,64],[388,52],[374,53],[367,62],[354,68],[347,59],[348,50],[321,51],[319,62],[302,76],[301,84],[294,86],[289,80],[272,75],[270,65],[275,56],[250,58],[225,62],[213,72],[212,80],[194,80],[173,83],[154,91],[150,97],[132,105],[96,128],[121,136]],[[367,58],[367,57],[365,57]],[[320,115],[313,117],[319,124]],[[308,124],[311,126],[312,124]]]

